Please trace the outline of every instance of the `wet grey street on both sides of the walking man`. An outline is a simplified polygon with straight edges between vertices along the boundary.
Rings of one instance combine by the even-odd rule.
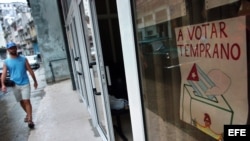
[[[33,121],[36,124],[36,112],[39,107],[41,99],[44,97],[44,88],[46,87],[43,64],[37,70],[34,70],[38,88],[33,87],[33,80],[31,82],[31,104],[33,110]],[[27,72],[28,73],[28,72]],[[21,108],[19,102],[16,102],[11,88],[8,92],[3,94],[0,91],[0,141],[27,141],[29,137],[29,129],[27,123],[24,122],[25,112]]]

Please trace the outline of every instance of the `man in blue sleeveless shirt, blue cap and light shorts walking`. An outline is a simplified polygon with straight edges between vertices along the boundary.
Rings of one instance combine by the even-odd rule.
[[[37,88],[37,81],[33,70],[31,69],[28,60],[17,53],[17,46],[14,42],[9,42],[6,45],[9,57],[5,59],[3,64],[3,72],[1,76],[2,91],[6,91],[6,85],[4,84],[7,71],[10,74],[10,80],[15,82],[13,87],[13,93],[17,102],[20,102],[21,107],[26,112],[24,121],[28,123],[29,128],[34,128],[35,124],[32,121],[32,105],[30,102],[30,81],[27,71],[30,73],[33,81],[34,88]]]

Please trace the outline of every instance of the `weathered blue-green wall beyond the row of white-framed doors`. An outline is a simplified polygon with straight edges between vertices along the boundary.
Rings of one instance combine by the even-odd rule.
[[[29,0],[29,3],[37,31],[38,46],[43,59],[46,81],[53,82],[53,76],[56,81],[69,78],[69,66],[66,59],[57,1]],[[50,64],[52,64],[53,72]]]

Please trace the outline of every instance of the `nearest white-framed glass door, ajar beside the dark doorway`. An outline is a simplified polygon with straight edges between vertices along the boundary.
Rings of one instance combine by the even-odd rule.
[[[113,124],[110,114],[104,61],[95,19],[94,2],[81,1],[79,10],[85,38],[89,74],[92,82],[95,119],[97,121],[96,127],[103,139],[113,141]]]

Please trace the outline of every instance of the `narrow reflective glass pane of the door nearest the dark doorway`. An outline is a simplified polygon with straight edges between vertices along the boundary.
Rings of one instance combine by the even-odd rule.
[[[91,23],[90,20],[90,11],[89,11],[89,3],[84,2],[83,4],[80,4],[80,10],[81,10],[81,20],[83,24],[83,30],[85,30],[85,46],[86,50],[88,52],[88,60],[89,64],[91,66],[90,68],[90,73],[92,77],[92,86],[93,86],[93,92],[94,92],[94,99],[95,99],[95,105],[96,105],[96,112],[97,112],[97,118],[98,118],[98,123],[103,130],[104,134],[107,134],[107,123],[105,121],[105,104],[103,100],[103,94],[101,93],[101,87],[100,87],[100,82],[101,78],[98,75],[98,69],[96,65],[96,47],[93,44],[93,29],[91,28]]]

